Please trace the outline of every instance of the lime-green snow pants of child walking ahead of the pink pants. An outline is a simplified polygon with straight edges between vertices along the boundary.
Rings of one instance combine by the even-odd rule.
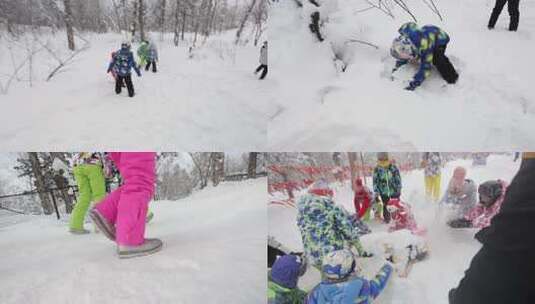
[[[102,160],[98,153],[82,152],[74,157],[74,179],[78,185],[78,201],[71,214],[70,228],[82,230],[91,202],[98,203],[106,195]]]

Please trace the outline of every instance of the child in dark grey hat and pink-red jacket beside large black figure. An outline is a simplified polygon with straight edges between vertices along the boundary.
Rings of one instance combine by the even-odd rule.
[[[500,212],[507,185],[501,180],[491,180],[479,185],[479,204],[463,218],[450,221],[452,228],[486,228],[492,218]]]

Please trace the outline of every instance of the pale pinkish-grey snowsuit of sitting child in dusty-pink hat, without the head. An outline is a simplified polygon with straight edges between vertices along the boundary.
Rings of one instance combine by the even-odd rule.
[[[448,187],[440,203],[456,206],[456,217],[464,218],[477,204],[476,183],[471,179],[465,179],[462,189],[458,193],[451,189],[451,187]]]

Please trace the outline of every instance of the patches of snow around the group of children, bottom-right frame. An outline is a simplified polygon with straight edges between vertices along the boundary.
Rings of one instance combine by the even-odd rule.
[[[473,167],[471,161],[458,160],[446,164],[442,174],[442,190],[453,174],[456,166],[465,166],[468,177],[476,183],[490,179],[503,179],[510,182],[519,163],[514,163],[512,157],[492,155],[488,165]],[[456,287],[473,255],[480,248],[480,244],[473,238],[475,229],[453,230],[446,226],[441,216],[438,216],[436,203],[426,201],[424,191],[424,177],[422,170],[412,171],[402,175],[402,200],[411,204],[419,225],[427,228],[427,243],[430,256],[414,265],[408,278],[403,279],[394,275],[387,288],[374,303],[388,304],[446,304],[449,289]],[[368,183],[371,181],[368,180]],[[354,212],[353,194],[349,184],[333,185],[335,201],[347,210]],[[268,208],[268,231],[281,243],[293,250],[302,250],[299,229],[295,223],[296,210],[291,207],[271,205]],[[383,263],[381,253],[375,251],[379,243],[388,241],[394,244],[406,240],[407,235],[402,232],[388,234],[384,232],[385,225],[372,223],[372,234],[362,238],[367,250],[376,253],[369,259],[360,259],[359,265],[363,273],[372,276]],[[310,290],[320,280],[319,272],[309,269],[300,281],[300,287]]]

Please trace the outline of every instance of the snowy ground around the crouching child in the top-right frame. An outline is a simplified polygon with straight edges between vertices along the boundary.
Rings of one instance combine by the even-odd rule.
[[[270,7],[270,68],[278,88],[268,127],[272,150],[511,151],[535,146],[535,1],[520,2],[520,27],[511,33],[507,8],[496,29],[487,30],[494,0],[435,0],[444,21],[424,1],[406,0],[420,25],[435,24],[450,34],[446,54],[460,74],[456,85],[445,85],[434,71],[414,92],[403,88],[415,67],[402,68],[393,81],[389,75],[394,66],[390,44],[399,26],[411,21],[399,7],[393,8],[392,19],[367,9],[364,0],[318,1],[326,38],[319,43],[308,29],[312,5],[302,2],[305,8],[293,0]],[[350,62],[345,73],[336,71],[331,45],[344,50]]]

